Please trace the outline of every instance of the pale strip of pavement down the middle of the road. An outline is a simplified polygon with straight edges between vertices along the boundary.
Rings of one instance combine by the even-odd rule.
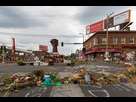
[[[59,77],[71,76],[70,72],[59,72]],[[75,94],[76,93],[76,94]],[[85,97],[78,84],[53,86],[49,97]]]

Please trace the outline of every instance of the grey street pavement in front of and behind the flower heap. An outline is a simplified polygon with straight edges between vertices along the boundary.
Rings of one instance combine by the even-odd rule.
[[[47,72],[54,72],[55,75],[72,76],[75,71],[79,71],[80,66],[91,73],[104,72],[105,74],[118,73],[124,68],[118,64],[106,62],[89,62],[88,64],[76,64],[75,66],[66,66],[66,64],[57,64],[54,66],[18,66],[15,63],[2,64],[0,63],[0,75],[8,74],[26,75],[37,68],[43,68]],[[136,84],[122,83],[108,84],[107,87],[99,87],[95,85],[78,85],[78,84],[60,84],[59,86],[42,86],[42,87],[27,87],[19,90],[19,93],[11,92],[9,97],[135,97]],[[0,97],[3,97],[5,92],[0,92]]]

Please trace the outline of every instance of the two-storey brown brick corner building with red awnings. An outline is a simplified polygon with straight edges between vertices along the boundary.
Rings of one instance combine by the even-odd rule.
[[[99,58],[106,52],[106,31],[98,31],[89,37],[83,44],[86,48],[85,56]],[[108,52],[112,58],[136,52],[136,31],[108,31]]]

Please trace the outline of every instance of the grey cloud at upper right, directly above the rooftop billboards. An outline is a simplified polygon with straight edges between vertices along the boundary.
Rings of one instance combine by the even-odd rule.
[[[80,10],[81,18],[73,18],[81,24],[91,25],[107,18],[107,14],[114,12],[114,15],[128,10],[129,6],[87,6]]]

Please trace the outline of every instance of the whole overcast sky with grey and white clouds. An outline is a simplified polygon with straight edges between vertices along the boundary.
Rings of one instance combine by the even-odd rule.
[[[61,42],[82,43],[79,33],[85,35],[87,25],[106,19],[112,12],[114,16],[129,9],[134,22],[130,28],[135,30],[135,6],[0,6],[0,44],[12,46],[12,38],[15,38],[17,48],[38,51],[39,45],[46,45],[48,52],[52,52],[50,40],[56,38],[59,53],[67,55],[83,45],[64,44],[61,47]]]

